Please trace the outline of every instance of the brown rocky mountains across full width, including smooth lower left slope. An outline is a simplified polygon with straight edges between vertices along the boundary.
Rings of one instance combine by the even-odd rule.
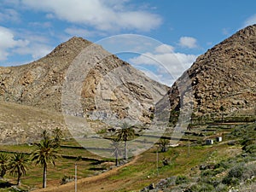
[[[191,115],[191,103],[196,116],[216,117],[221,106],[225,115],[255,114],[256,25],[199,56],[172,88],[76,37],[38,61],[0,67],[0,142],[20,135],[22,141],[16,142],[22,143],[39,136],[35,129],[64,127],[61,113],[78,117],[75,122],[89,118],[148,123],[154,117],[168,121],[161,115],[170,111],[171,119],[178,111]]]

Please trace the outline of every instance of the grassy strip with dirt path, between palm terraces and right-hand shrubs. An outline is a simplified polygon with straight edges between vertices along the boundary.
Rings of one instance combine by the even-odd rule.
[[[78,191],[139,191],[150,183],[157,183],[161,178],[177,175],[195,175],[195,167],[206,161],[224,160],[234,153],[230,153],[234,147],[227,145],[214,145],[213,147],[192,147],[188,157],[188,148],[170,148],[166,153],[159,154],[159,172],[156,169],[155,148],[137,156],[137,160],[132,160],[127,166],[113,169],[108,173],[96,177],[88,177],[79,180]],[[225,150],[228,149],[228,150]],[[224,152],[227,151],[227,152]],[[220,152],[220,153],[219,153]],[[229,155],[225,155],[229,154]],[[170,158],[171,164],[163,166],[162,160]],[[194,171],[191,171],[194,170]],[[61,187],[49,188],[38,191],[65,192],[72,191],[74,183],[68,183]]]

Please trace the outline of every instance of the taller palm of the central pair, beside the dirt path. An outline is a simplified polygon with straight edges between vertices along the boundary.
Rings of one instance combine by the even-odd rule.
[[[122,129],[117,131],[118,134],[118,141],[124,141],[125,142],[125,160],[128,160],[128,155],[127,155],[127,141],[131,138],[134,137],[134,129],[131,128],[127,123],[124,123],[122,125]]]

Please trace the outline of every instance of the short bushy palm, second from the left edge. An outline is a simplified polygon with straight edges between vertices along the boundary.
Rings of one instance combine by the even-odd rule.
[[[20,177],[26,175],[26,164],[29,159],[26,154],[14,154],[9,161],[10,174],[17,177],[17,185],[20,184]]]

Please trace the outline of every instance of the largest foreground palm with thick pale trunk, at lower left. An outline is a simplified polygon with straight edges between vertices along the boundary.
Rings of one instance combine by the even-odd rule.
[[[59,157],[57,148],[59,146],[55,144],[53,140],[49,140],[48,137],[44,137],[44,139],[40,143],[36,143],[36,148],[32,152],[32,161],[36,162],[36,165],[40,164],[43,166],[43,188],[46,188],[46,172],[47,166],[50,162],[55,166],[55,160]]]

